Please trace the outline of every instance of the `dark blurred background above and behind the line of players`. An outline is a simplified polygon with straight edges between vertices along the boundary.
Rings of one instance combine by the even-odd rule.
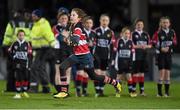
[[[169,16],[178,39],[178,45],[175,48],[176,54],[173,57],[174,74],[172,77],[180,79],[177,77],[180,68],[178,54],[180,52],[180,0],[0,0],[0,44],[6,25],[14,11],[26,9],[31,12],[39,8],[43,11],[43,16],[50,21],[51,25],[54,25],[59,7],[66,7],[69,10],[75,7],[84,9],[94,17],[94,27],[99,25],[100,14],[107,13],[111,17],[110,27],[116,33],[119,33],[123,26],[132,26],[136,18],[142,18],[145,21],[145,30],[149,32],[151,37],[158,29],[159,18]],[[0,57],[0,60],[2,62],[3,58]],[[148,79],[154,80],[156,73],[157,69],[153,65],[148,74]],[[5,76],[3,74],[6,74],[6,70],[4,63],[0,63],[1,79]]]

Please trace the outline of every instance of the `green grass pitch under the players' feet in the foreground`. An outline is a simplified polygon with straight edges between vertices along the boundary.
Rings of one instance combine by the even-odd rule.
[[[73,84],[70,86],[70,97],[66,99],[54,99],[50,94],[30,94],[30,98],[13,99],[15,93],[3,92],[5,81],[0,81],[0,109],[180,109],[180,83],[172,82],[169,98],[156,97],[156,83],[146,82],[146,97],[138,96],[130,98],[126,84],[123,84],[123,92],[120,98],[114,96],[112,86],[105,86],[106,97],[95,98],[92,81],[88,86],[88,97],[76,97]],[[138,88],[137,88],[138,89]],[[55,92],[52,87],[52,92]]]

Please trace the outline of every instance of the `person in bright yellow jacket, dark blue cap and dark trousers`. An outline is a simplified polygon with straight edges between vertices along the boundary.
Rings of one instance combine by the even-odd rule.
[[[31,31],[31,43],[33,47],[34,61],[31,68],[30,91],[38,92],[38,83],[42,84],[42,92],[50,92],[49,77],[46,72],[46,59],[51,47],[55,45],[54,34],[49,22],[42,17],[42,12],[36,9],[32,12],[33,27]]]

